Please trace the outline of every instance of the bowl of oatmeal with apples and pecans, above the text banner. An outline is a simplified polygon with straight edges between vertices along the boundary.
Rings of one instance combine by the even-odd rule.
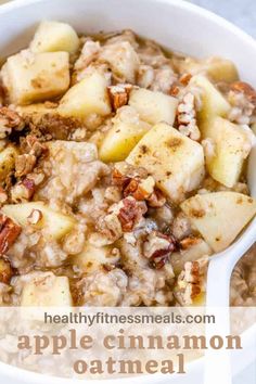
[[[0,304],[204,305],[255,240],[255,41],[176,1],[0,21]]]

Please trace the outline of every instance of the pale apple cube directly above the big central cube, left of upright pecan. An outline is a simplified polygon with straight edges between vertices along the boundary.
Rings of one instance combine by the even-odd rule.
[[[162,92],[140,88],[131,91],[129,105],[139,113],[142,120],[149,124],[165,121],[172,125],[178,100]]]

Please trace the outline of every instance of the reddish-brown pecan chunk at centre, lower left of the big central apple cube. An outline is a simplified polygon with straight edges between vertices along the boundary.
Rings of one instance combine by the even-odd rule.
[[[126,197],[121,203],[123,206],[120,207],[117,217],[120,221],[123,231],[130,232],[146,213],[146,206],[143,202],[137,202],[132,197]]]

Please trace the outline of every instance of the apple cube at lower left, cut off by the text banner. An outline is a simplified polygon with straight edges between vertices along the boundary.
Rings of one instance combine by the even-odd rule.
[[[27,276],[29,277],[29,276]],[[52,272],[33,273],[22,291],[21,306],[64,307],[72,306],[69,281]]]

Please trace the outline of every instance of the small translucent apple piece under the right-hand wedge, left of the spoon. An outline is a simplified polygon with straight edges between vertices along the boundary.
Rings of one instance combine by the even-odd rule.
[[[179,274],[187,261],[195,261],[203,256],[210,256],[212,254],[213,249],[203,239],[200,239],[197,243],[191,245],[188,249],[174,252],[170,255],[170,264],[175,274]]]

